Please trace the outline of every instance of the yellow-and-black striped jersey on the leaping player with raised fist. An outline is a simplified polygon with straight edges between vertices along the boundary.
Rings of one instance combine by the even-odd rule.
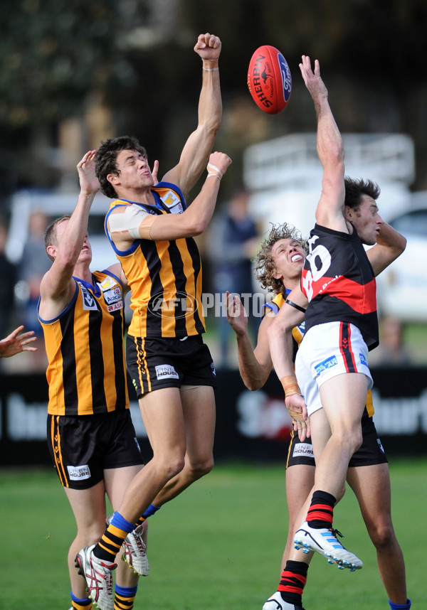
[[[152,189],[155,205],[115,200],[105,230],[132,291],[128,333],[133,337],[184,337],[204,333],[201,302],[201,258],[192,237],[171,241],[135,240],[117,250],[107,231],[107,218],[119,205],[139,205],[149,214],[181,214],[186,209],[179,188],[161,182]]]

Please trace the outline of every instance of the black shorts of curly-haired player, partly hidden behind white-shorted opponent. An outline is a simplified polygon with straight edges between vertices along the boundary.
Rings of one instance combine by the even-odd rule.
[[[312,450],[311,439],[301,442],[297,432],[292,430],[290,445],[288,450],[288,461],[286,468],[297,464],[315,466],[315,456]],[[357,466],[374,466],[376,464],[387,464],[388,460],[384,448],[376,432],[374,419],[369,417],[367,410],[364,410],[362,417],[362,445],[352,455],[349,461],[349,468]]]

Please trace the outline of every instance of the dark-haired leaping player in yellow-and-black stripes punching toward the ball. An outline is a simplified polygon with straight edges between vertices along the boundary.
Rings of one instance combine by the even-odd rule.
[[[221,41],[206,33],[199,36],[195,50],[203,60],[199,125],[178,164],[156,183],[157,164],[155,180],[144,147],[133,137],[103,142],[95,157],[102,193],[113,200],[105,229],[131,289],[127,370],[153,458],[128,487],[99,544],[78,553],[82,569],[92,564],[112,568],[117,545],[137,520],[143,521],[214,465],[216,376],[202,341],[201,262],[194,237],[214,213],[231,159],[211,154],[222,113]],[[186,195],[206,164],[204,185],[187,208]]]

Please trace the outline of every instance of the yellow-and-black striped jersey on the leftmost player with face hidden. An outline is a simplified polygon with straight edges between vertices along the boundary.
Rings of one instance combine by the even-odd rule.
[[[75,277],[70,304],[53,320],[38,320],[48,355],[48,413],[88,415],[129,407],[125,317],[120,279],[93,272],[93,285]]]

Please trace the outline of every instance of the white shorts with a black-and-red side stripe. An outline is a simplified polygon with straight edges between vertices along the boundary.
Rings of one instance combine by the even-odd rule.
[[[295,358],[295,375],[309,415],[322,408],[320,386],[342,373],[363,373],[368,378],[368,390],[374,384],[367,344],[359,328],[347,322],[312,326]]]

